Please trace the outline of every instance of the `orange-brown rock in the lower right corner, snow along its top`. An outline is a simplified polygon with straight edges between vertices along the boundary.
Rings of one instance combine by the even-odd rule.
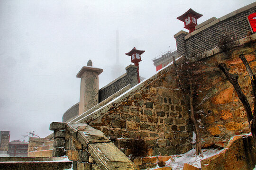
[[[255,164],[252,136],[234,136],[222,152],[201,161],[201,170],[252,170]]]

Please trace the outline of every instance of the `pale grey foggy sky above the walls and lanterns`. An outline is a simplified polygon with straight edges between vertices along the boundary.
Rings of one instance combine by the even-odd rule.
[[[192,8],[200,24],[254,1],[0,0],[0,130],[10,141],[33,130],[49,135],[50,123],[79,102],[76,74],[89,59],[104,70],[100,88],[126,72],[133,47],[146,51],[140,76],[152,76],[152,59],[176,48],[174,34],[188,32],[176,17]]]

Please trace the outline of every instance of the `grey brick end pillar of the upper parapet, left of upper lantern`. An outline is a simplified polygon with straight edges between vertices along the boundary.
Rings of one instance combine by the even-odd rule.
[[[174,35],[174,38],[176,39],[176,46],[177,46],[177,52],[178,56],[186,56],[187,50],[186,50],[186,42],[184,37],[189,34],[185,31],[180,31],[177,34]]]

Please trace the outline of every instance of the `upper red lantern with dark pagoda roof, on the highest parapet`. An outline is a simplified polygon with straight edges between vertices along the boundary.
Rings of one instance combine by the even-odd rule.
[[[197,19],[202,17],[201,14],[195,12],[192,8],[190,8],[187,12],[185,12],[177,19],[184,22],[184,28],[189,30],[189,33],[195,31],[195,26],[197,26]]]

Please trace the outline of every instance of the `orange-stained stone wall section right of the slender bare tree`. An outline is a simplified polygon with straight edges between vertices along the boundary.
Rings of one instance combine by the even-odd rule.
[[[256,34],[252,35],[254,39]],[[249,132],[246,112],[238,95],[219,70],[218,64],[223,62],[230,68],[229,73],[238,74],[238,83],[253,107],[251,83],[247,70],[239,55],[243,54],[254,73],[256,73],[256,43],[240,45],[229,52],[221,52],[201,59],[203,66],[203,87],[198,93],[197,119],[200,119],[203,146],[216,144],[225,146],[230,137]]]

